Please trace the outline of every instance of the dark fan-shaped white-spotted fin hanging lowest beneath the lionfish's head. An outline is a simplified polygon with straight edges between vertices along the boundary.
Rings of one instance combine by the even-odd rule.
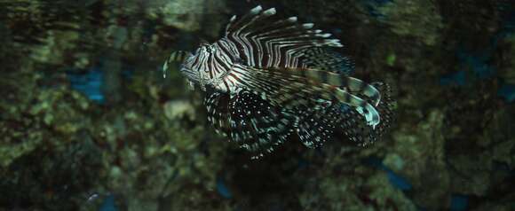
[[[231,96],[214,92],[204,102],[216,131],[250,152],[253,159],[273,152],[293,131],[294,117],[248,90]]]

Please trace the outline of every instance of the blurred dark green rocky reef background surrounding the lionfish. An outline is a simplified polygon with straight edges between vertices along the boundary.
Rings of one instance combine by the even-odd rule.
[[[162,78],[257,4],[396,87],[384,140],[246,160]],[[0,0],[0,42],[0,210],[515,210],[512,0]]]

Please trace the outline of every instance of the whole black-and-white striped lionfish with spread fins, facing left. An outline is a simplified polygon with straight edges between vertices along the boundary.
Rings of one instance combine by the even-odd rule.
[[[343,47],[338,39],[275,13],[257,6],[234,15],[217,42],[173,52],[163,76],[180,62],[187,82],[206,92],[210,124],[254,159],[295,138],[311,148],[375,142],[392,121],[390,87],[349,76],[350,59],[326,49]]]

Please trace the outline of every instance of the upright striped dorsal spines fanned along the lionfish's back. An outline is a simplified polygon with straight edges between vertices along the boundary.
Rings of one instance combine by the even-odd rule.
[[[338,39],[313,29],[313,23],[298,23],[297,17],[277,20],[275,9],[261,6],[242,18],[231,18],[226,27],[226,39],[240,51],[247,66],[295,67],[305,49],[315,46],[342,47]]]

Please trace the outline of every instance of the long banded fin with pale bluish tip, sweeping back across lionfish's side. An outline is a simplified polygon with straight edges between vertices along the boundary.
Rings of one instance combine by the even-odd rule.
[[[242,80],[242,85],[246,89],[256,91],[274,106],[282,106],[287,109],[298,106],[310,108],[316,106],[317,101],[323,99],[336,101],[361,111],[367,117],[370,125],[376,126],[380,121],[379,113],[374,106],[368,103],[368,100],[337,85],[317,82],[305,76],[306,74],[294,74],[293,69],[286,71],[277,68],[256,69],[234,66],[234,71],[247,77]],[[298,72],[304,73],[305,71],[299,70]]]

